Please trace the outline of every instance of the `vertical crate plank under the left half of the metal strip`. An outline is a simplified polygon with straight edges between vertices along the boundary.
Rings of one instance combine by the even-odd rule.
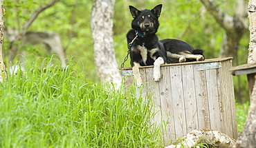
[[[198,112],[199,129],[210,129],[208,90],[205,70],[196,70],[196,67],[194,67],[194,85],[196,89],[196,107]]]

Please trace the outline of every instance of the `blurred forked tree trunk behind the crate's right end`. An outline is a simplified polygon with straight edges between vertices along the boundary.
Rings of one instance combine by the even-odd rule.
[[[212,14],[217,23],[219,23],[219,25],[226,31],[226,34],[224,34],[223,37],[219,57],[232,56],[235,65],[237,65],[239,41],[246,31],[248,22],[245,1],[237,0],[237,8],[235,9],[234,17],[229,16],[223,12],[223,10],[218,8],[213,0],[201,0],[201,2],[210,14]]]

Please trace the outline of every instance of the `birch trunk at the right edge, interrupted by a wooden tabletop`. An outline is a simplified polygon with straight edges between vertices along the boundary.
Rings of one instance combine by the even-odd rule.
[[[255,63],[253,61],[253,54],[256,52],[256,0],[250,0],[248,4],[248,17],[250,21],[250,43],[248,63]],[[255,60],[255,59],[254,59]],[[250,108],[246,118],[246,124],[243,131],[237,138],[233,148],[246,147],[253,148],[256,146],[256,81],[253,86],[253,92],[250,95]]]

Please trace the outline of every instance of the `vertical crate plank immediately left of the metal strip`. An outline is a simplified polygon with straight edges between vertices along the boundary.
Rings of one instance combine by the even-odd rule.
[[[193,65],[181,65],[187,132],[199,129]]]

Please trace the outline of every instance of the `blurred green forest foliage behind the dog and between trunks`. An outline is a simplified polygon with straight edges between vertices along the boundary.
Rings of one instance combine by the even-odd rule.
[[[44,3],[47,3],[47,1],[4,1],[4,7],[6,8],[4,24],[8,28],[21,30],[21,25],[30,17],[35,9]],[[210,12],[203,7],[201,1],[122,0],[116,1],[113,18],[113,39],[118,66],[121,65],[127,54],[126,34],[131,28],[132,20],[129,5],[135,6],[138,9],[151,9],[159,3],[163,4],[163,10],[159,18],[161,25],[157,32],[159,39],[181,39],[190,43],[195,48],[205,50],[204,55],[206,59],[219,57],[219,49],[225,30],[215,21]],[[235,0],[218,0],[216,4],[230,16],[235,14]],[[66,50],[67,59],[75,61],[86,72],[85,77],[89,81],[97,83],[100,80],[93,59],[93,40],[90,30],[92,6],[93,0],[59,1],[55,3],[55,6],[39,14],[39,17],[28,30],[37,32],[52,31],[60,34],[64,47],[71,41]],[[246,31],[239,43],[238,63],[233,63],[234,66],[247,63],[249,39],[249,31]],[[29,61],[38,61],[38,56],[48,56],[42,45],[26,46],[26,48],[23,47],[21,50],[28,51],[26,59]],[[3,44],[4,61],[8,61],[8,52],[8,41],[5,40]],[[125,63],[125,67],[129,66],[128,60]],[[235,76],[234,85],[237,102],[248,102],[246,76]]]

